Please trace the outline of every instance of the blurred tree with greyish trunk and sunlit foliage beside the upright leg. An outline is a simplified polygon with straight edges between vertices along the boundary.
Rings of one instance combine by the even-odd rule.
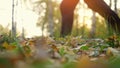
[[[31,3],[30,10],[39,15],[37,26],[41,28],[42,35],[45,31],[53,36],[55,31],[59,31],[60,11],[59,4],[54,0],[24,0],[24,2]],[[27,4],[27,3],[25,3]],[[54,25],[57,27],[54,27]]]

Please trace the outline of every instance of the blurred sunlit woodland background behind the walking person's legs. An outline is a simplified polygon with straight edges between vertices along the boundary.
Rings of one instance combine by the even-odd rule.
[[[0,34],[10,30],[17,36],[60,36],[62,0],[0,0]],[[105,0],[120,15],[120,0]],[[80,0],[74,15],[73,36],[110,35],[106,20]]]

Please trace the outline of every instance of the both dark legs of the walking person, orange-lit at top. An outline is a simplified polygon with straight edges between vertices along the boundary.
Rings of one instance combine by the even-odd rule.
[[[62,29],[61,35],[65,36],[71,33],[73,24],[74,9],[79,0],[63,0],[61,3]],[[120,32],[120,19],[118,15],[110,9],[103,0],[84,0],[90,9],[98,12],[103,16],[114,29],[115,32]],[[69,4],[68,4],[69,3]]]

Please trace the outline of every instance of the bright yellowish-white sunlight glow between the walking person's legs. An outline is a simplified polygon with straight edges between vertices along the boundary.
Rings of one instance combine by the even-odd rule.
[[[82,5],[77,6],[79,9],[76,14],[79,15],[79,25],[83,26],[84,24],[90,29],[91,28],[91,17],[92,17],[92,11],[87,8],[87,5],[84,3],[83,0],[80,0],[80,3]]]

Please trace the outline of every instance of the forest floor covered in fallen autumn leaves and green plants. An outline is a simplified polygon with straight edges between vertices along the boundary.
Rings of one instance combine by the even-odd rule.
[[[120,68],[120,38],[1,35],[0,68]]]

